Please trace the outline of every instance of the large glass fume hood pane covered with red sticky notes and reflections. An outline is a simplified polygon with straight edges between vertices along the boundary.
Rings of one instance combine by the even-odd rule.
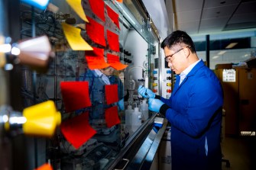
[[[158,91],[154,83],[159,84],[159,80],[151,79],[154,73],[150,70],[158,69],[159,47],[149,27],[150,21],[134,16],[131,8],[140,12],[135,6],[100,2],[95,5],[95,1],[82,1],[81,7],[89,23],[97,24],[92,30],[66,2],[52,2],[58,6],[57,12],[37,8],[33,11],[31,6],[21,3],[21,39],[47,35],[54,53],[47,67],[24,66],[22,70],[24,107],[50,100],[62,116],[60,128],[50,139],[42,139],[45,148],[41,146],[36,153],[41,163],[50,162],[54,169],[108,167],[151,119],[147,100],[138,95],[139,85]],[[79,36],[94,48],[93,53],[96,48],[102,50],[103,53],[93,56],[102,60],[89,63],[90,51],[73,50],[63,23],[79,29]],[[100,32],[95,32],[99,27],[104,30],[103,39]],[[114,40],[116,35],[118,42]],[[110,63],[109,54],[117,56],[115,64],[118,66],[128,66],[120,68]],[[109,65],[102,67],[103,64]],[[62,85],[67,82],[74,84],[66,84],[64,89]],[[88,86],[81,88],[78,82],[88,82]],[[64,95],[66,89],[73,92]],[[86,97],[77,100],[81,94],[86,96],[84,93],[91,103],[86,107],[83,105]],[[39,144],[34,142],[33,145]]]

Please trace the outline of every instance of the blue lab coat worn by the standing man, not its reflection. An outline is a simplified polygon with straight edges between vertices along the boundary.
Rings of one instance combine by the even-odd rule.
[[[201,60],[180,83],[170,99],[172,170],[220,170],[223,93],[219,79]]]

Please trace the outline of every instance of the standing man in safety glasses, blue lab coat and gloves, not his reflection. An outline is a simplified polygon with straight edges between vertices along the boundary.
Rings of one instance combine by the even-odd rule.
[[[151,111],[171,124],[172,170],[220,170],[222,152],[222,87],[219,79],[196,55],[186,32],[177,30],[161,43],[170,69],[177,74],[170,99],[140,86]]]

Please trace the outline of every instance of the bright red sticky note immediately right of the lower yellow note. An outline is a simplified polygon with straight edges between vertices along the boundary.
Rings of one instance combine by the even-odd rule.
[[[89,23],[86,23],[86,32],[90,39],[99,45],[105,47],[104,27],[102,24],[87,17]]]

